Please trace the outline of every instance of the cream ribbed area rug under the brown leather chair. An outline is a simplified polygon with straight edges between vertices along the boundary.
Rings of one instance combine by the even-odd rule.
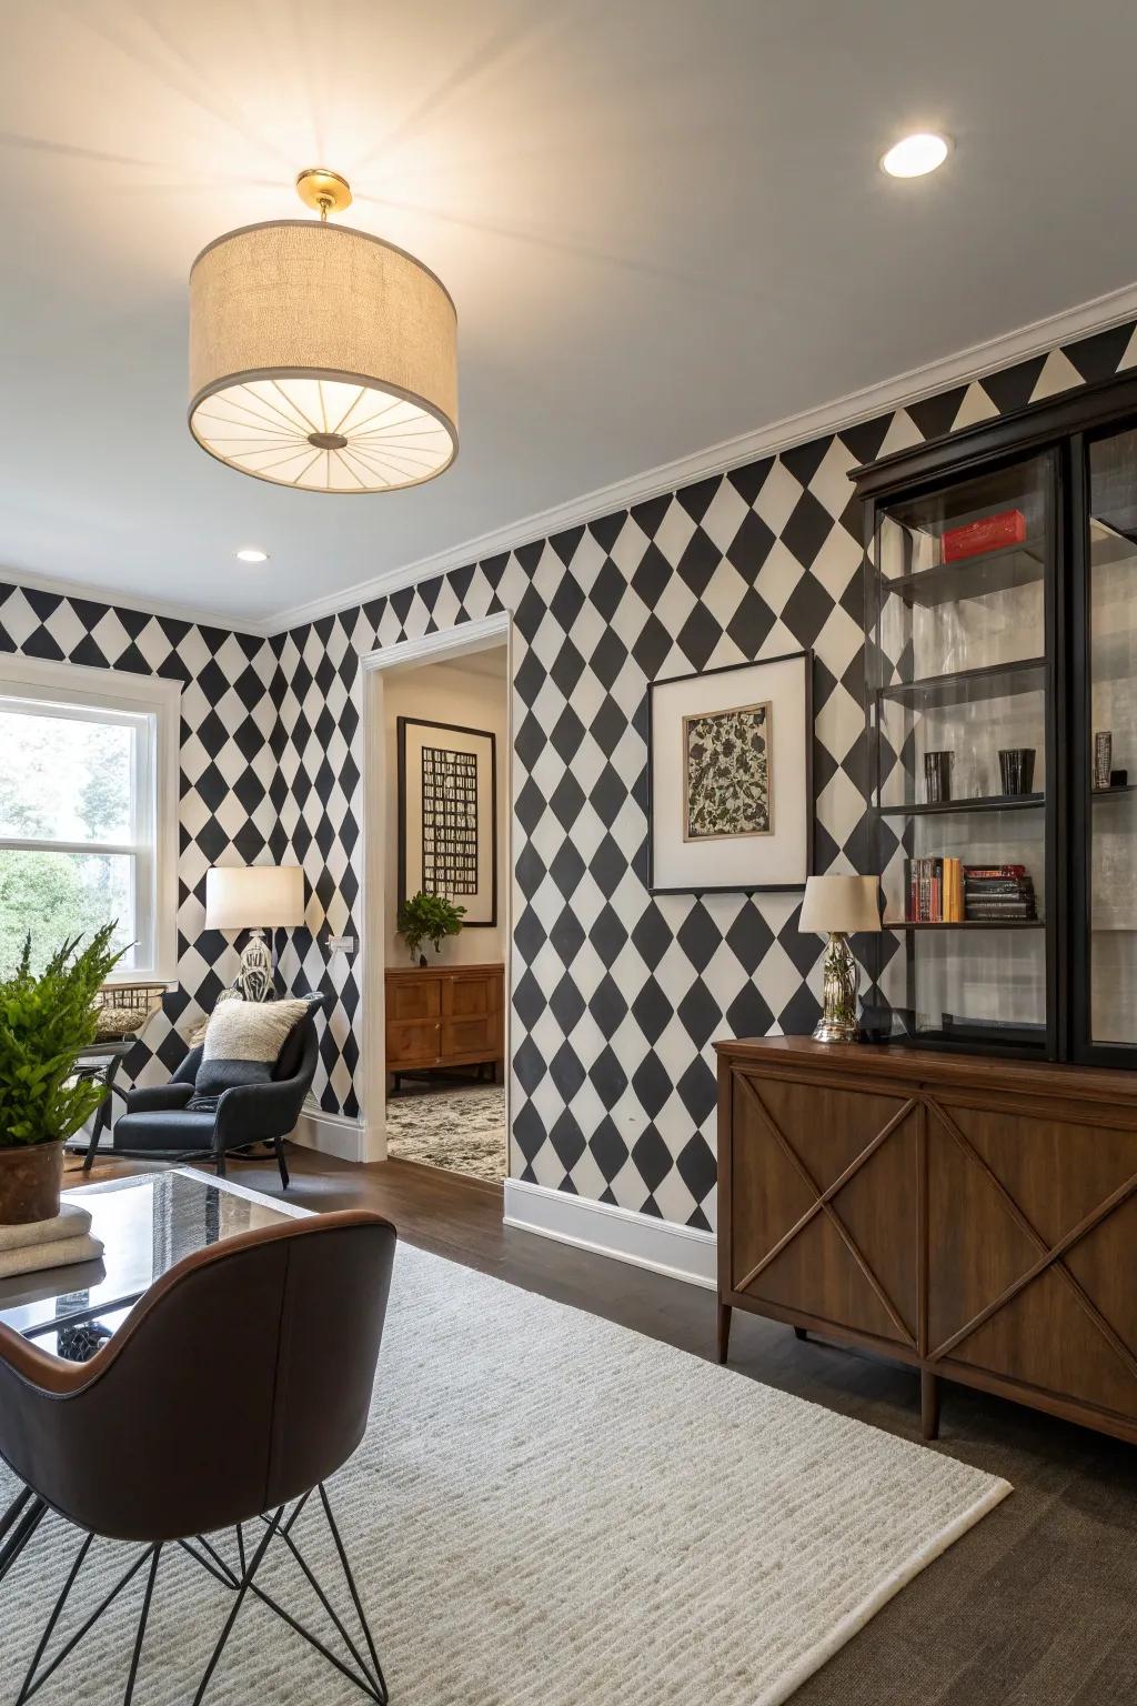
[[[331,1483],[392,1706],[776,1706],[1009,1491],[406,1245],[368,1435]],[[343,1602],[319,1513],[297,1534]],[[276,1551],[264,1585],[322,1631]],[[3,1581],[3,1701],[73,1554],[75,1535],[49,1518]],[[130,1556],[92,1549],[92,1595]],[[46,1684],[44,1706],[121,1701],[141,1575]],[[184,1554],[162,1556],[138,1706],[193,1699],[225,1614],[223,1588]],[[72,1616],[68,1628],[82,1604]],[[361,1696],[251,1604],[206,1699]]]

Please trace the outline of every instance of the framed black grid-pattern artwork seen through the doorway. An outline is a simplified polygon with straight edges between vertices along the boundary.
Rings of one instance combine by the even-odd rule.
[[[419,891],[498,923],[498,754],[486,728],[397,718],[399,906]]]

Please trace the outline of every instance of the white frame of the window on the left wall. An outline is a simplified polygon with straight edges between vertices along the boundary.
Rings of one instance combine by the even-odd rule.
[[[111,981],[174,983],[177,976],[177,768],[181,681],[121,669],[0,657],[0,708],[128,723],[135,728],[135,815],[130,843],[0,836],[0,850],[131,853],[135,856],[136,962]]]

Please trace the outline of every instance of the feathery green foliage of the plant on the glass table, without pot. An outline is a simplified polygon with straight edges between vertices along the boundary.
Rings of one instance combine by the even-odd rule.
[[[73,1073],[94,1042],[95,995],[124,952],[111,949],[114,930],[97,930],[82,952],[82,937],[65,942],[39,976],[29,935],[17,969],[0,979],[0,1148],[70,1138],[107,1094]]]

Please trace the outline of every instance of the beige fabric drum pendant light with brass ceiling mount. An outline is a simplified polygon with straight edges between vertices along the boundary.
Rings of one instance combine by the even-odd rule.
[[[336,172],[300,172],[319,220],[230,230],[189,271],[189,430],[242,474],[395,491],[459,449],[457,316],[414,256],[329,225]]]

